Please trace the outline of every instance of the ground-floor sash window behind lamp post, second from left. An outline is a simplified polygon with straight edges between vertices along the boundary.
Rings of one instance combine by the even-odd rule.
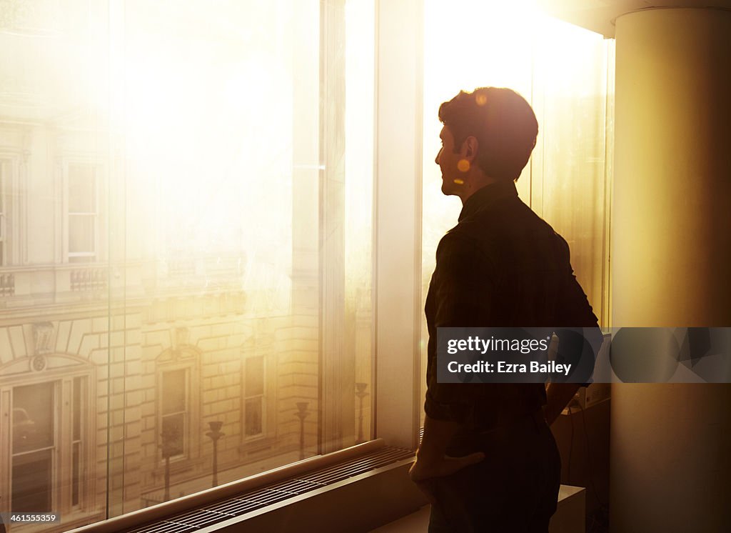
[[[161,380],[159,428],[162,458],[182,457],[188,452],[188,368],[163,371]]]

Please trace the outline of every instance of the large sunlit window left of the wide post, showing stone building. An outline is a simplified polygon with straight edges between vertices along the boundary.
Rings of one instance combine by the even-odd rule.
[[[0,5],[12,510],[64,531],[371,438],[374,11]]]

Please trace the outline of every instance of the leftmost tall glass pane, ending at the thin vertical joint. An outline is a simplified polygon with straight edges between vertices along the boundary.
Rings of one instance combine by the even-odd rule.
[[[107,280],[124,279],[124,272],[113,278],[103,263],[88,265],[106,259],[96,240],[105,235],[102,221],[108,213],[73,214],[100,208],[94,168],[108,168],[112,153],[124,161],[110,143],[121,132],[109,113],[113,16],[107,0],[14,6],[18,9],[5,9],[7,3],[0,8],[0,130],[28,127],[22,136],[10,134],[2,141],[4,154],[22,154],[10,156],[15,161],[3,156],[0,187],[5,235],[18,237],[8,241],[5,259],[17,253],[22,261],[6,266],[10,270],[1,276],[1,296],[12,311],[0,326],[0,338],[17,331],[12,342],[22,348],[0,348],[0,396],[9,396],[12,404],[4,407],[12,427],[0,429],[7,433],[0,439],[7,442],[0,450],[6,461],[0,464],[0,486],[12,498],[3,510],[61,513],[54,530],[65,531],[85,517],[98,519],[121,507],[107,507],[120,492],[107,485],[107,473],[123,472],[114,461],[124,450],[120,445],[107,450],[104,443],[122,442],[132,412],[120,394],[124,355],[117,355],[115,366],[112,362],[115,350],[125,350],[124,328],[122,339],[118,334],[110,339],[113,317],[105,290]],[[13,210],[16,200],[22,213]],[[20,224],[25,218],[30,222]],[[61,257],[61,249],[70,255]],[[69,267],[67,260],[87,264]],[[43,301],[33,296],[41,294]],[[47,312],[51,302],[53,315]],[[86,435],[97,447],[78,444]],[[91,480],[93,494],[84,490]]]

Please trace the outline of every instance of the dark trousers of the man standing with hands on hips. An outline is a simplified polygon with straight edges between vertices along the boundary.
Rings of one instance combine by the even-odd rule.
[[[542,416],[452,441],[448,455],[485,460],[435,480],[430,533],[548,532],[561,484],[561,458]]]

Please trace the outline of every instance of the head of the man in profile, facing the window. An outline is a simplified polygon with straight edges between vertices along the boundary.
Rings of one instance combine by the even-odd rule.
[[[517,180],[536,145],[536,116],[509,88],[460,91],[439,106],[439,120],[444,128],[436,164],[442,169],[442,192],[462,200],[463,192],[469,196],[485,184]]]

